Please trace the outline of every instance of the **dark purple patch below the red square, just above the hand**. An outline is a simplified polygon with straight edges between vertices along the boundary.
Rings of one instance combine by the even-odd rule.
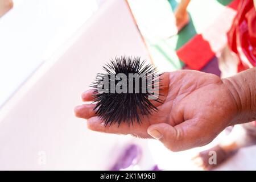
[[[187,65],[184,65],[184,67],[182,69],[191,69],[189,68]],[[214,56],[207,65],[204,66],[204,68],[202,68],[200,70],[201,72],[205,72],[205,73],[212,73],[215,74],[217,76],[221,75],[221,71],[218,68],[218,58],[216,56]]]

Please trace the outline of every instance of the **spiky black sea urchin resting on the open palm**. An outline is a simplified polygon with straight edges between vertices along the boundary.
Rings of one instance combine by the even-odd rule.
[[[103,68],[106,73],[98,73],[91,86],[96,89],[94,110],[105,125],[133,125],[134,121],[140,124],[140,116],[158,111],[150,101],[162,103],[158,98],[160,79],[153,65],[139,57],[122,56],[110,60]]]

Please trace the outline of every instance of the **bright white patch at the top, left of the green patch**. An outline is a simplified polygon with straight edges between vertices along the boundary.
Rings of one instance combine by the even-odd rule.
[[[171,5],[166,0],[129,0],[142,35],[150,42],[170,38],[177,33]]]

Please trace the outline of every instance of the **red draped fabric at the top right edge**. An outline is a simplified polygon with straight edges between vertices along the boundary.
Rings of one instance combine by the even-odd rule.
[[[251,65],[256,66],[256,11],[253,0],[240,0],[238,13],[228,32],[228,43],[240,59],[238,71],[243,71]],[[238,48],[241,48],[242,53]],[[242,61],[242,55],[249,63]]]

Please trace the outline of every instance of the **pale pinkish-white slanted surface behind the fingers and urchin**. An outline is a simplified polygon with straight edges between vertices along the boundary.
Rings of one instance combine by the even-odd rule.
[[[125,1],[104,3],[63,50],[0,110],[0,169],[108,169],[127,140],[89,131],[72,112],[110,58],[149,60]],[[147,169],[151,160],[144,156]]]

